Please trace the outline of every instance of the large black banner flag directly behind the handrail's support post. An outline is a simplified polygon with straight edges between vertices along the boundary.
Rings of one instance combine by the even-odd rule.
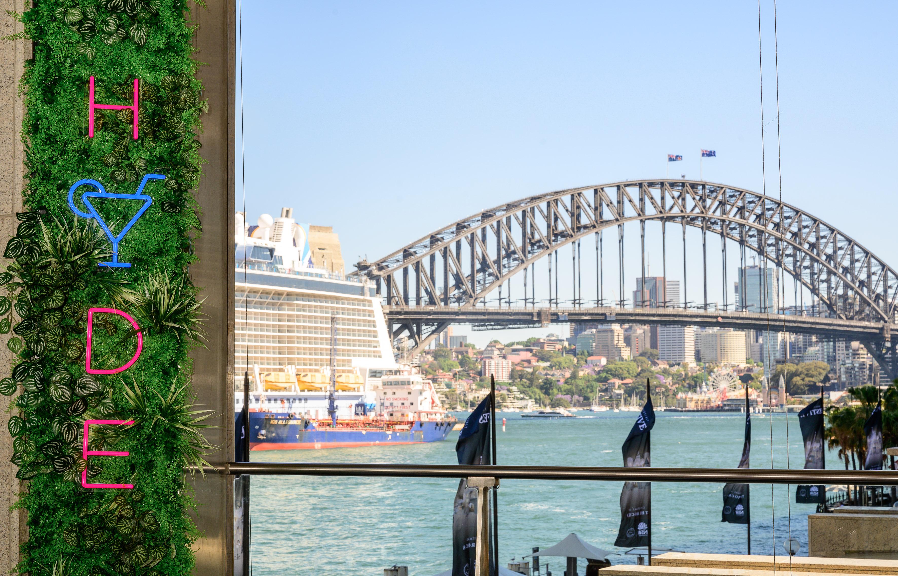
[[[464,421],[455,444],[459,464],[490,463],[491,403],[492,397],[485,397]],[[472,576],[477,551],[477,488],[468,488],[463,478],[459,481],[453,505],[452,549],[452,576]]]

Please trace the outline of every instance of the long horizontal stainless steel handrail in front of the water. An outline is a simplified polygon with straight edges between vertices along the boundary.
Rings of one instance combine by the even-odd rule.
[[[562,466],[461,466],[440,464],[333,464],[317,462],[231,462],[225,474],[254,476],[392,476],[503,480],[605,480],[630,482],[708,482],[743,484],[898,485],[890,470],[788,470],[767,468],[641,468]]]

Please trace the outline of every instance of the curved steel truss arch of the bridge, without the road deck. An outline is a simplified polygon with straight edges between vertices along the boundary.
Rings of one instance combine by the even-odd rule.
[[[898,298],[894,269],[796,206],[710,182],[629,180],[529,196],[471,214],[374,263],[360,262],[357,274],[374,280],[389,310],[470,307],[571,242],[632,222],[644,238],[649,221],[700,228],[752,250],[797,278],[827,315],[883,323],[884,339],[866,344],[881,365],[894,356],[887,329]],[[417,351],[445,326],[401,330]]]

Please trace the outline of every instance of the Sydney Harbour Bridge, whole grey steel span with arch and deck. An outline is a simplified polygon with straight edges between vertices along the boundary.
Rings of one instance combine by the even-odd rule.
[[[646,277],[647,223],[660,225],[665,279],[672,272],[667,252],[679,249],[674,242],[682,237],[683,269],[678,276],[682,298],[656,302],[651,308],[624,297],[625,269],[633,271],[638,266],[636,275]],[[624,235],[634,225],[639,230],[639,256],[628,262]],[[688,228],[700,230],[700,249],[687,250]],[[709,266],[714,266],[709,265],[709,239],[715,237],[719,252],[710,261],[720,268],[722,305],[709,302]],[[595,244],[594,287],[592,278],[584,283],[580,274],[585,260],[581,240],[590,238]],[[606,256],[605,244],[616,254]],[[568,252],[570,256],[562,299],[559,250],[565,247],[569,249],[562,257],[568,258]],[[659,251],[648,248],[655,254]],[[727,301],[726,260],[734,248],[740,270],[744,271],[750,257],[756,257],[764,269],[756,281],[760,305],[748,304],[752,299],[744,293],[750,284],[746,278],[739,283],[740,298]],[[690,268],[701,266],[699,283],[687,273],[687,262]],[[616,297],[611,299],[605,299],[608,266],[617,268],[613,271]],[[529,196],[472,214],[380,260],[360,262],[357,268],[357,274],[376,284],[392,337],[394,341],[407,338],[409,353],[423,350],[453,323],[471,324],[475,329],[545,327],[556,322],[733,327],[859,341],[891,378],[898,377],[891,337],[898,297],[894,269],[831,224],[777,198],[742,188],[653,179]],[[794,279],[797,306],[791,310],[785,306],[785,283],[779,284],[783,289],[779,306],[769,302],[770,289],[761,286],[762,278],[766,282],[774,275]],[[687,286],[688,278],[699,285]],[[512,279],[519,292],[514,302]],[[810,306],[804,305],[805,290]],[[700,298],[689,300],[696,293]]]

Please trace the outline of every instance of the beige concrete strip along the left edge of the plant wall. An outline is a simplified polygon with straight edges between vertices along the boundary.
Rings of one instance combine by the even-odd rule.
[[[19,0],[0,0],[0,36],[22,31],[22,24],[15,22],[6,11],[21,11]],[[22,212],[22,116],[24,106],[19,97],[19,79],[26,58],[31,57],[31,42],[27,40],[0,40],[0,247],[6,246],[17,221],[16,212]],[[0,336],[0,372],[7,375],[13,354],[6,348],[7,336]],[[0,396],[0,573],[13,571],[19,562],[19,543],[26,534],[25,514],[9,507],[21,492],[15,477],[18,468],[9,461],[13,458],[13,442],[6,432],[7,412],[14,397]],[[21,520],[21,522],[20,522]]]

